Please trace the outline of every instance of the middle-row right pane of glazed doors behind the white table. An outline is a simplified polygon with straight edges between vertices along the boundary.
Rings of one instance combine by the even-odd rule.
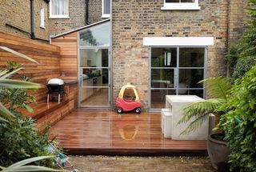
[[[203,70],[179,70],[179,88],[202,88]]]

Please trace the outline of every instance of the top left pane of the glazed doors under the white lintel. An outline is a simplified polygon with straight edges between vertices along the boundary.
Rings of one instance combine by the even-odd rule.
[[[176,48],[152,48],[151,66],[152,67],[176,67],[177,66]]]

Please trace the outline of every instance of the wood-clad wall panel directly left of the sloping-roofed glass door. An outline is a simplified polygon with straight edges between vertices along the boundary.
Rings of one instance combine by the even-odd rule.
[[[78,79],[78,33],[52,38],[51,44],[60,47],[60,71],[70,79]]]

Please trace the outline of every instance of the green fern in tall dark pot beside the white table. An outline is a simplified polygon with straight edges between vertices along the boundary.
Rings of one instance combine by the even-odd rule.
[[[197,130],[198,127],[201,126],[207,118],[209,118],[210,114],[217,114],[221,116],[226,113],[226,110],[221,110],[220,107],[228,102],[228,97],[232,87],[230,79],[222,77],[206,78],[200,83],[206,84],[206,90],[208,91],[210,99],[202,102],[194,102],[184,107],[184,116],[180,119],[178,124],[188,122],[190,119],[194,119],[194,121],[190,123],[182,134],[188,134]],[[218,130],[217,133],[210,134],[207,141],[208,154],[210,156],[212,166],[214,166],[214,169],[216,170],[228,169],[227,162],[230,150],[223,138],[224,134],[222,134],[222,130]]]

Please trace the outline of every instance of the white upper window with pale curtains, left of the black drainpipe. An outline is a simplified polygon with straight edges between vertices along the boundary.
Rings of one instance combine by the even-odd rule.
[[[50,18],[69,18],[69,0],[50,0]]]

